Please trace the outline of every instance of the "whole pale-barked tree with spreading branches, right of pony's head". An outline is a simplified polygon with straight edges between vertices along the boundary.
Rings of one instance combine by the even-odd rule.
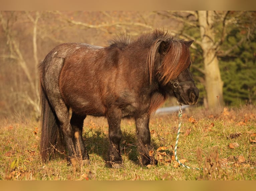
[[[200,71],[203,77],[200,81],[204,84],[206,89],[205,106],[209,108],[217,108],[223,105],[223,81],[221,78],[221,71],[219,67],[219,57],[224,56],[223,43],[230,36],[232,29],[238,28],[235,26],[241,19],[245,17],[250,19],[252,23],[253,12],[247,13],[242,11],[185,11],[185,12],[157,12],[164,17],[176,19],[183,23],[181,30],[173,31],[181,37],[195,40],[197,51],[202,51],[203,67],[195,63],[194,69]],[[251,23],[248,24],[251,25]],[[241,27],[241,26],[240,26]],[[237,46],[241,45],[248,34],[248,25],[243,26],[245,33],[236,39]],[[225,51],[225,55],[232,54],[234,47],[230,47]],[[197,54],[197,53],[196,53]],[[218,98],[217,98],[218,96]]]

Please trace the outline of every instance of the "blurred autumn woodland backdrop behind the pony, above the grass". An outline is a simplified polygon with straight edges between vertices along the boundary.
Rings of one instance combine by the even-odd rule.
[[[255,105],[255,20],[255,11],[1,11],[0,118],[39,117],[37,65],[56,45],[108,46],[122,34],[134,39],[154,28],[194,40],[197,106]]]

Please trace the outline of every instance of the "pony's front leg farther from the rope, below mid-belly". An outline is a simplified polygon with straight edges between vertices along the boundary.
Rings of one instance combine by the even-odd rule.
[[[122,131],[120,128],[121,117],[108,117],[109,124],[109,158],[108,165],[113,168],[121,168],[122,157],[120,153],[120,141],[122,138]]]

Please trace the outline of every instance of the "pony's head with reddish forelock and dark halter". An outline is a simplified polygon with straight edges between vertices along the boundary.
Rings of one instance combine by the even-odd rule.
[[[174,95],[183,104],[195,104],[199,98],[199,90],[189,71],[192,43],[173,40],[165,34],[153,43],[147,60],[150,83],[155,80],[162,91]]]

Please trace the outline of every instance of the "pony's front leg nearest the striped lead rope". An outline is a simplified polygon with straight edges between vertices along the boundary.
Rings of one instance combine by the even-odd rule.
[[[156,164],[157,161],[149,155],[150,146],[150,131],[149,131],[149,116],[147,114],[135,118],[137,137],[138,137],[138,151],[141,155],[141,164],[146,166],[148,164]]]

